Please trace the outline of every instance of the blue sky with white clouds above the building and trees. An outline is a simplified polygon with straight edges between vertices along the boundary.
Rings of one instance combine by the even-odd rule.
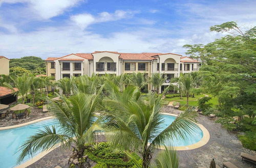
[[[0,55],[61,57],[96,50],[172,52],[226,34],[209,27],[255,26],[256,1],[0,0]]]

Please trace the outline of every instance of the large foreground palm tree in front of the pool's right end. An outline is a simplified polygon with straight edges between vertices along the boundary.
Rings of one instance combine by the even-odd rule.
[[[166,129],[160,131],[163,124],[161,111],[162,96],[155,93],[142,95],[137,87],[128,86],[122,93],[117,89],[109,90],[108,98],[102,103],[106,109],[105,131],[113,144],[125,149],[138,150],[142,156],[142,167],[150,166],[154,150],[164,145],[166,139],[176,136],[185,137],[196,124],[195,112],[187,108]]]

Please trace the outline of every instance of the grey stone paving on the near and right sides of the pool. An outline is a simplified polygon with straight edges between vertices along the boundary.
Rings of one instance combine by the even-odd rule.
[[[180,110],[176,110],[170,106],[164,106],[162,112],[176,115],[181,113]],[[236,133],[228,132],[222,128],[221,124],[215,123],[214,120],[210,120],[205,116],[199,115],[197,121],[209,131],[210,139],[206,145],[200,148],[178,151],[179,167],[209,167],[212,158],[214,158],[216,164],[221,167],[222,163],[225,161],[230,161],[238,167],[255,167],[252,163],[241,161],[241,152],[254,155],[256,152],[243,148]],[[97,141],[105,141],[104,136],[99,135]],[[68,167],[67,163],[70,154],[70,149],[62,150],[56,148],[28,167],[55,167],[57,165]],[[95,165],[95,163],[92,165]]]

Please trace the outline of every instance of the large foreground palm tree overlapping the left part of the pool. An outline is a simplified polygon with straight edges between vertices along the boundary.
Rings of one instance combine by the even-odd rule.
[[[79,167],[83,167],[83,154],[86,150],[84,144],[93,143],[94,135],[99,131],[99,120],[96,107],[99,94],[87,95],[77,93],[70,98],[61,97],[63,103],[56,103],[48,98],[50,111],[60,123],[59,130],[55,126],[45,127],[35,135],[27,138],[27,141],[19,148],[22,153],[17,162],[20,163],[27,155],[33,155],[40,150],[49,150],[60,144],[62,148],[74,148],[74,159],[79,160]],[[72,158],[73,158],[72,157]]]

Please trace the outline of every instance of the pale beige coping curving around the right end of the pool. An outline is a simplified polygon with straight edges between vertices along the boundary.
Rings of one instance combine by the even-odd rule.
[[[177,117],[178,115],[175,114],[170,114],[170,113],[161,113],[163,115],[168,115],[168,116],[175,116]],[[191,149],[197,149],[200,148],[202,146],[204,146],[205,144],[208,143],[209,139],[210,139],[210,133],[209,131],[202,125],[202,124],[197,124],[197,126],[202,130],[203,132],[203,137],[201,138],[201,140],[195,144],[192,145],[187,145],[187,146],[182,146],[182,147],[174,147],[176,151],[185,151],[185,150],[191,150]],[[164,146],[160,146],[159,149],[165,149]]]

